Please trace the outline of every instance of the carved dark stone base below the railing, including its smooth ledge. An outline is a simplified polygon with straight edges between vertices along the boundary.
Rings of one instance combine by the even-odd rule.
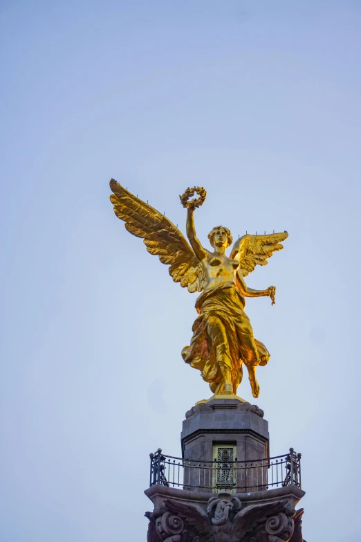
[[[148,542],[305,542],[297,487],[210,497],[156,485],[145,494],[154,503]]]

